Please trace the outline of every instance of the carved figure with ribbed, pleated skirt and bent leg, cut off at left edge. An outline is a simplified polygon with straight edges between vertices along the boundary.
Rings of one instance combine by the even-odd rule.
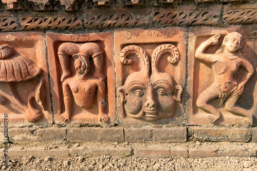
[[[26,56],[21,56],[8,45],[0,46],[1,74],[0,81],[6,82],[10,95],[0,90],[0,104],[9,105],[11,108],[21,112],[29,122],[35,122],[42,118],[43,113],[36,109],[33,99],[46,110],[45,83],[41,79],[38,86],[32,91],[28,103],[24,102],[16,91],[15,82],[27,81],[38,76],[42,69],[35,65]],[[33,90],[33,88],[31,88]]]

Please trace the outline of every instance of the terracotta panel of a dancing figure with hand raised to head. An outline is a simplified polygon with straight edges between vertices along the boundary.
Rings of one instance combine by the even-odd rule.
[[[256,26],[190,29],[189,124],[256,122],[255,29]]]

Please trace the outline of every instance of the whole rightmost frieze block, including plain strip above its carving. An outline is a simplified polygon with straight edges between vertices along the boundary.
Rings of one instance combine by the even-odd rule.
[[[230,24],[253,24],[257,23],[257,4],[225,6],[223,19]]]

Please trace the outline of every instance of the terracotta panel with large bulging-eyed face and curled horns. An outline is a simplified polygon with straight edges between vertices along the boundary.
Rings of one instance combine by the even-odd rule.
[[[115,31],[121,124],[182,124],[185,29]]]

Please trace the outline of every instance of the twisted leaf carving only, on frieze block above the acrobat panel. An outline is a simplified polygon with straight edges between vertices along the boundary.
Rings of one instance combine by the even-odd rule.
[[[128,12],[91,14],[85,17],[84,25],[86,28],[135,27],[146,23],[148,16],[141,18]]]

